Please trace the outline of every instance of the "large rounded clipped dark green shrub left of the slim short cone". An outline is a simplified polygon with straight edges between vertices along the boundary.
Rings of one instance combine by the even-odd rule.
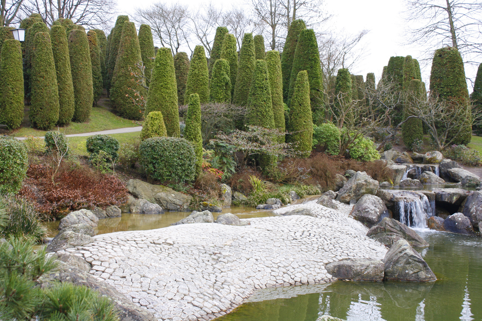
[[[139,146],[139,161],[150,180],[186,182],[196,177],[194,147],[184,138],[148,138]]]

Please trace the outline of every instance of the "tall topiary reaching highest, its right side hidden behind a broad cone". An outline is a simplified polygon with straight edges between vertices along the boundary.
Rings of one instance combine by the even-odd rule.
[[[306,29],[305,22],[301,19],[296,19],[288,29],[286,42],[281,53],[281,74],[283,77],[283,99],[288,100],[290,91],[291,72],[293,70],[293,60],[295,59],[296,45],[298,43],[298,36],[302,30]]]

